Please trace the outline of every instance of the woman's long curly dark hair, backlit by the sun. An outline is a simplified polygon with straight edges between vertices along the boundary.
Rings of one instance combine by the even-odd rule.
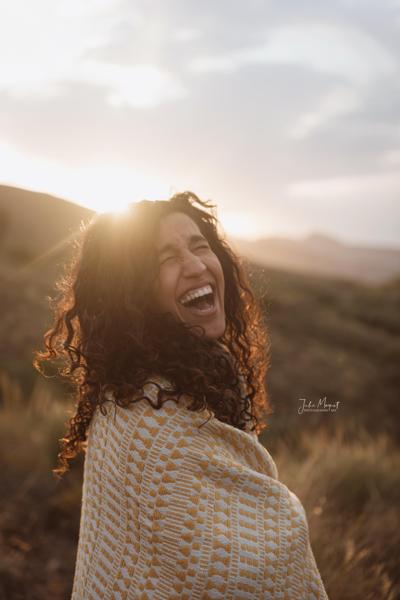
[[[142,398],[152,404],[143,386],[154,374],[172,384],[169,391],[158,385],[157,409],[166,399],[179,401],[185,394],[191,410],[211,410],[240,430],[247,421],[257,435],[267,427],[264,419],[273,412],[265,388],[267,331],[241,259],[218,232],[215,209],[186,191],[169,200],[131,203],[122,215],[97,214],[81,223],[72,256],[56,282],[59,294],[50,298],[54,322],[44,334],[46,351],[36,351],[33,360],[46,377],[41,363],[62,359],[58,374],[72,385],[76,400],[68,431],[59,440],[55,476],[61,477],[68,460],[85,451],[96,407],[106,414],[110,399],[125,408]],[[154,240],[160,219],[177,211],[197,224],[222,266],[226,329],[218,340],[199,336],[193,326],[155,308]]]

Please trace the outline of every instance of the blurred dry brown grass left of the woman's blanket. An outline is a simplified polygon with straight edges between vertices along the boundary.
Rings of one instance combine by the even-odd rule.
[[[69,599],[81,501],[81,461],[52,475],[65,406],[38,379],[31,397],[0,373],[0,598]]]

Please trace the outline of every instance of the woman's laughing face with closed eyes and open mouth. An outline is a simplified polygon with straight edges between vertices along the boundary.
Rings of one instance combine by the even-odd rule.
[[[189,325],[201,325],[207,338],[221,337],[225,331],[224,274],[196,223],[182,212],[162,217],[156,253],[158,308]]]

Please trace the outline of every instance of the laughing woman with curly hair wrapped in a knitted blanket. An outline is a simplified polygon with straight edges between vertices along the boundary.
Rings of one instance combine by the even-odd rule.
[[[298,498],[257,435],[262,317],[213,206],[130,205],[83,228],[41,360],[63,356],[85,451],[73,600],[327,598]]]

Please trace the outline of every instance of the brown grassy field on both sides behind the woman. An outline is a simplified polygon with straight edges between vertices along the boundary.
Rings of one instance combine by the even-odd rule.
[[[260,441],[301,499],[331,600],[400,595],[400,281],[376,288],[251,267],[272,342],[275,410]],[[65,394],[30,367],[46,323],[47,283],[23,278],[2,302],[0,598],[69,599],[78,539],[82,456],[51,474]],[[27,292],[26,290],[29,290]],[[5,309],[5,310],[4,310]],[[17,324],[17,325],[16,325]],[[11,340],[9,345],[4,340]],[[300,399],[339,401],[298,413]]]

